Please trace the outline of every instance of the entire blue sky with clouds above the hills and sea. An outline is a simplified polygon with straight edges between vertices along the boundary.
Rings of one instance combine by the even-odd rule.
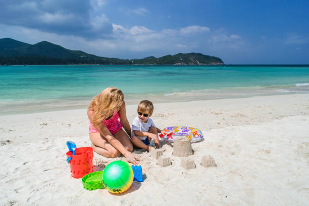
[[[225,64],[309,64],[309,1],[4,1],[0,38],[102,57],[198,52]]]

